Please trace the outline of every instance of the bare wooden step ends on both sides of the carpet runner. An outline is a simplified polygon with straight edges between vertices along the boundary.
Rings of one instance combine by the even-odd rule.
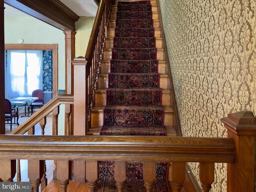
[[[112,5],[110,20],[108,22],[106,43],[101,62],[101,72],[98,75],[98,90],[95,92],[95,107],[92,109],[92,128],[88,132],[90,135],[98,135],[103,125],[103,109],[106,106],[106,88],[108,88],[108,73],[110,72],[110,59],[112,57],[113,38],[116,24],[117,4]],[[173,112],[171,107],[170,77],[168,76],[168,66],[164,57],[162,30],[160,28],[159,8],[156,0],[150,1],[152,5],[152,16],[154,19],[154,29],[156,37],[157,59],[159,62],[158,72],[160,73],[160,88],[162,89],[162,106],[164,107],[164,126],[167,136],[176,136],[173,127]]]

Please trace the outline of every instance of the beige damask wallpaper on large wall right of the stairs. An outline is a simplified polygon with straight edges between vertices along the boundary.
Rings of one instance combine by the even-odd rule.
[[[226,137],[220,118],[256,115],[256,1],[159,1],[182,133]],[[226,191],[226,165],[215,167],[211,191]]]

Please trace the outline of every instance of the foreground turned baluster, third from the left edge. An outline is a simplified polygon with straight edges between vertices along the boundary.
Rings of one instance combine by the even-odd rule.
[[[68,160],[57,160],[57,178],[62,192],[67,191],[68,181],[71,177],[71,166]]]

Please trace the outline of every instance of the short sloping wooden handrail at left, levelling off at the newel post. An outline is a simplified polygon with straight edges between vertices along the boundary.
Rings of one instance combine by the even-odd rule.
[[[52,110],[60,104],[74,104],[74,97],[72,95],[57,95],[47,102],[40,110],[33,113],[26,121],[20,124],[10,134],[25,134],[32,126],[37,124],[42,118],[47,116]]]

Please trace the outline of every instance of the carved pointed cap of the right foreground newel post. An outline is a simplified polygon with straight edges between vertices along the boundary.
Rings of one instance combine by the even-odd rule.
[[[237,135],[256,136],[256,118],[250,111],[230,113],[221,121],[228,130]]]

